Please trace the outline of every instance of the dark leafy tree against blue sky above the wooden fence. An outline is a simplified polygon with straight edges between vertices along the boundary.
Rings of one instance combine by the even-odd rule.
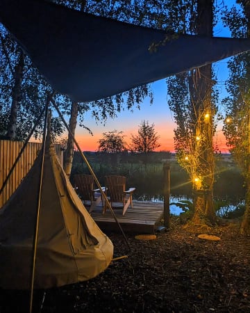
[[[44,81],[31,60],[0,26],[0,138],[24,141],[30,134],[51,87]],[[34,136],[42,134],[43,120]],[[65,130],[58,118],[51,119],[52,136]]]

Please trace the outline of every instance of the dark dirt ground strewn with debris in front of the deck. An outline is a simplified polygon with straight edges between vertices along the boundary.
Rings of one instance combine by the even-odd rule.
[[[35,291],[33,312],[250,313],[250,238],[240,236],[238,227],[190,230],[172,223],[156,239],[126,234],[130,250],[122,234],[108,234],[114,257],[122,258],[87,282]],[[0,296],[1,313],[28,312],[24,291],[0,290]]]

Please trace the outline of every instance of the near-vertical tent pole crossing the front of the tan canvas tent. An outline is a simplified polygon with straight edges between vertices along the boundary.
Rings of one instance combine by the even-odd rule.
[[[39,224],[39,214],[40,214],[40,206],[41,206],[41,194],[42,194],[42,176],[43,176],[43,168],[44,168],[44,153],[45,153],[45,141],[46,141],[46,130],[47,130],[47,119],[48,119],[48,108],[50,98],[53,97],[53,93],[51,95],[47,95],[47,102],[45,105],[45,115],[44,115],[44,129],[42,136],[42,159],[40,164],[40,178],[39,178],[39,186],[38,186],[38,199],[37,199],[37,211],[35,217],[35,230],[33,236],[33,259],[32,259],[32,273],[31,273],[31,294],[30,294],[30,307],[29,312],[32,312],[33,306],[33,289],[34,289],[34,280],[35,280],[35,258],[38,246],[38,224]]]

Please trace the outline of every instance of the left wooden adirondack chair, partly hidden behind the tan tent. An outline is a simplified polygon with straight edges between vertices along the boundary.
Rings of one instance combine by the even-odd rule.
[[[74,175],[74,188],[76,193],[83,201],[83,204],[89,212],[94,210],[94,207],[101,202],[101,192],[99,189],[94,189],[94,177],[92,175],[78,174]],[[103,187],[104,191],[104,187]]]

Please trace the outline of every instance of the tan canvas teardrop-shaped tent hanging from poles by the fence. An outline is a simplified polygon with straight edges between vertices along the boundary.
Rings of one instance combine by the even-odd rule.
[[[29,289],[40,159],[0,209],[0,287]],[[60,287],[90,280],[113,258],[103,234],[60,166],[53,148],[44,154],[34,288]]]

